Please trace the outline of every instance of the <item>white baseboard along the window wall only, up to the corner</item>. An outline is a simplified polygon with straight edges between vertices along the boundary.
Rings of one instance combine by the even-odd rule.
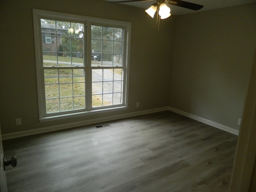
[[[2,134],[2,140],[8,140],[8,139],[19,138],[19,137],[35,135],[35,134],[40,134],[40,133],[46,133],[46,132],[51,132],[51,131],[57,131],[57,130],[64,130],[64,129],[68,129],[68,128],[74,128],[74,127],[85,126],[85,125],[90,125],[90,124],[98,124],[101,122],[107,122],[107,121],[111,121],[111,120],[123,119],[123,118],[139,116],[139,115],[144,115],[144,114],[150,114],[150,113],[166,111],[166,110],[169,110],[169,108],[162,107],[162,108],[127,113],[127,114],[102,117],[102,118],[97,118],[97,119],[92,119],[92,120],[72,122],[72,123],[68,123],[68,124],[60,124],[60,125],[56,125],[56,126],[49,126],[49,127],[32,129],[32,130],[27,130],[27,131]]]

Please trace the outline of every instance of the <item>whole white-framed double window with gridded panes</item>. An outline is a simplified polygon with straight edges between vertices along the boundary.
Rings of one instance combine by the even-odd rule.
[[[40,121],[127,108],[130,23],[33,14]]]

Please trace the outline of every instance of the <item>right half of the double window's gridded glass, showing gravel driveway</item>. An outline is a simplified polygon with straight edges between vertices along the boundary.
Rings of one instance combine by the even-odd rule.
[[[92,107],[122,104],[124,83],[124,29],[91,26],[92,50]],[[99,67],[102,67],[98,69]]]

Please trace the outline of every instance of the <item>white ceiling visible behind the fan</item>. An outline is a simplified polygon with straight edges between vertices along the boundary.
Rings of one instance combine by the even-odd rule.
[[[118,0],[105,0],[105,1],[114,2],[114,1],[118,1]],[[122,0],[120,0],[120,1],[122,1]],[[182,7],[178,7],[178,6],[174,6],[174,5],[170,5],[170,4],[166,3],[167,6],[169,6],[171,9],[171,14],[182,15],[182,14],[194,13],[194,12],[199,12],[199,11],[219,9],[219,8],[224,8],[224,7],[231,7],[231,6],[256,2],[256,0],[184,0],[184,1],[200,4],[200,5],[203,5],[204,7],[198,11],[194,11],[194,10],[190,10],[190,9],[186,9],[186,8],[182,8]],[[139,7],[139,8],[143,8],[146,10],[155,2],[156,2],[156,0],[149,1],[149,2],[128,2],[128,3],[122,3],[122,4]]]

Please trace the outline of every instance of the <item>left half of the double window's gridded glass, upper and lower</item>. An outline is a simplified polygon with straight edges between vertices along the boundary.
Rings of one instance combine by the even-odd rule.
[[[42,42],[46,114],[85,109],[85,69],[78,69],[84,66],[84,24],[42,18],[40,24],[56,39]]]

